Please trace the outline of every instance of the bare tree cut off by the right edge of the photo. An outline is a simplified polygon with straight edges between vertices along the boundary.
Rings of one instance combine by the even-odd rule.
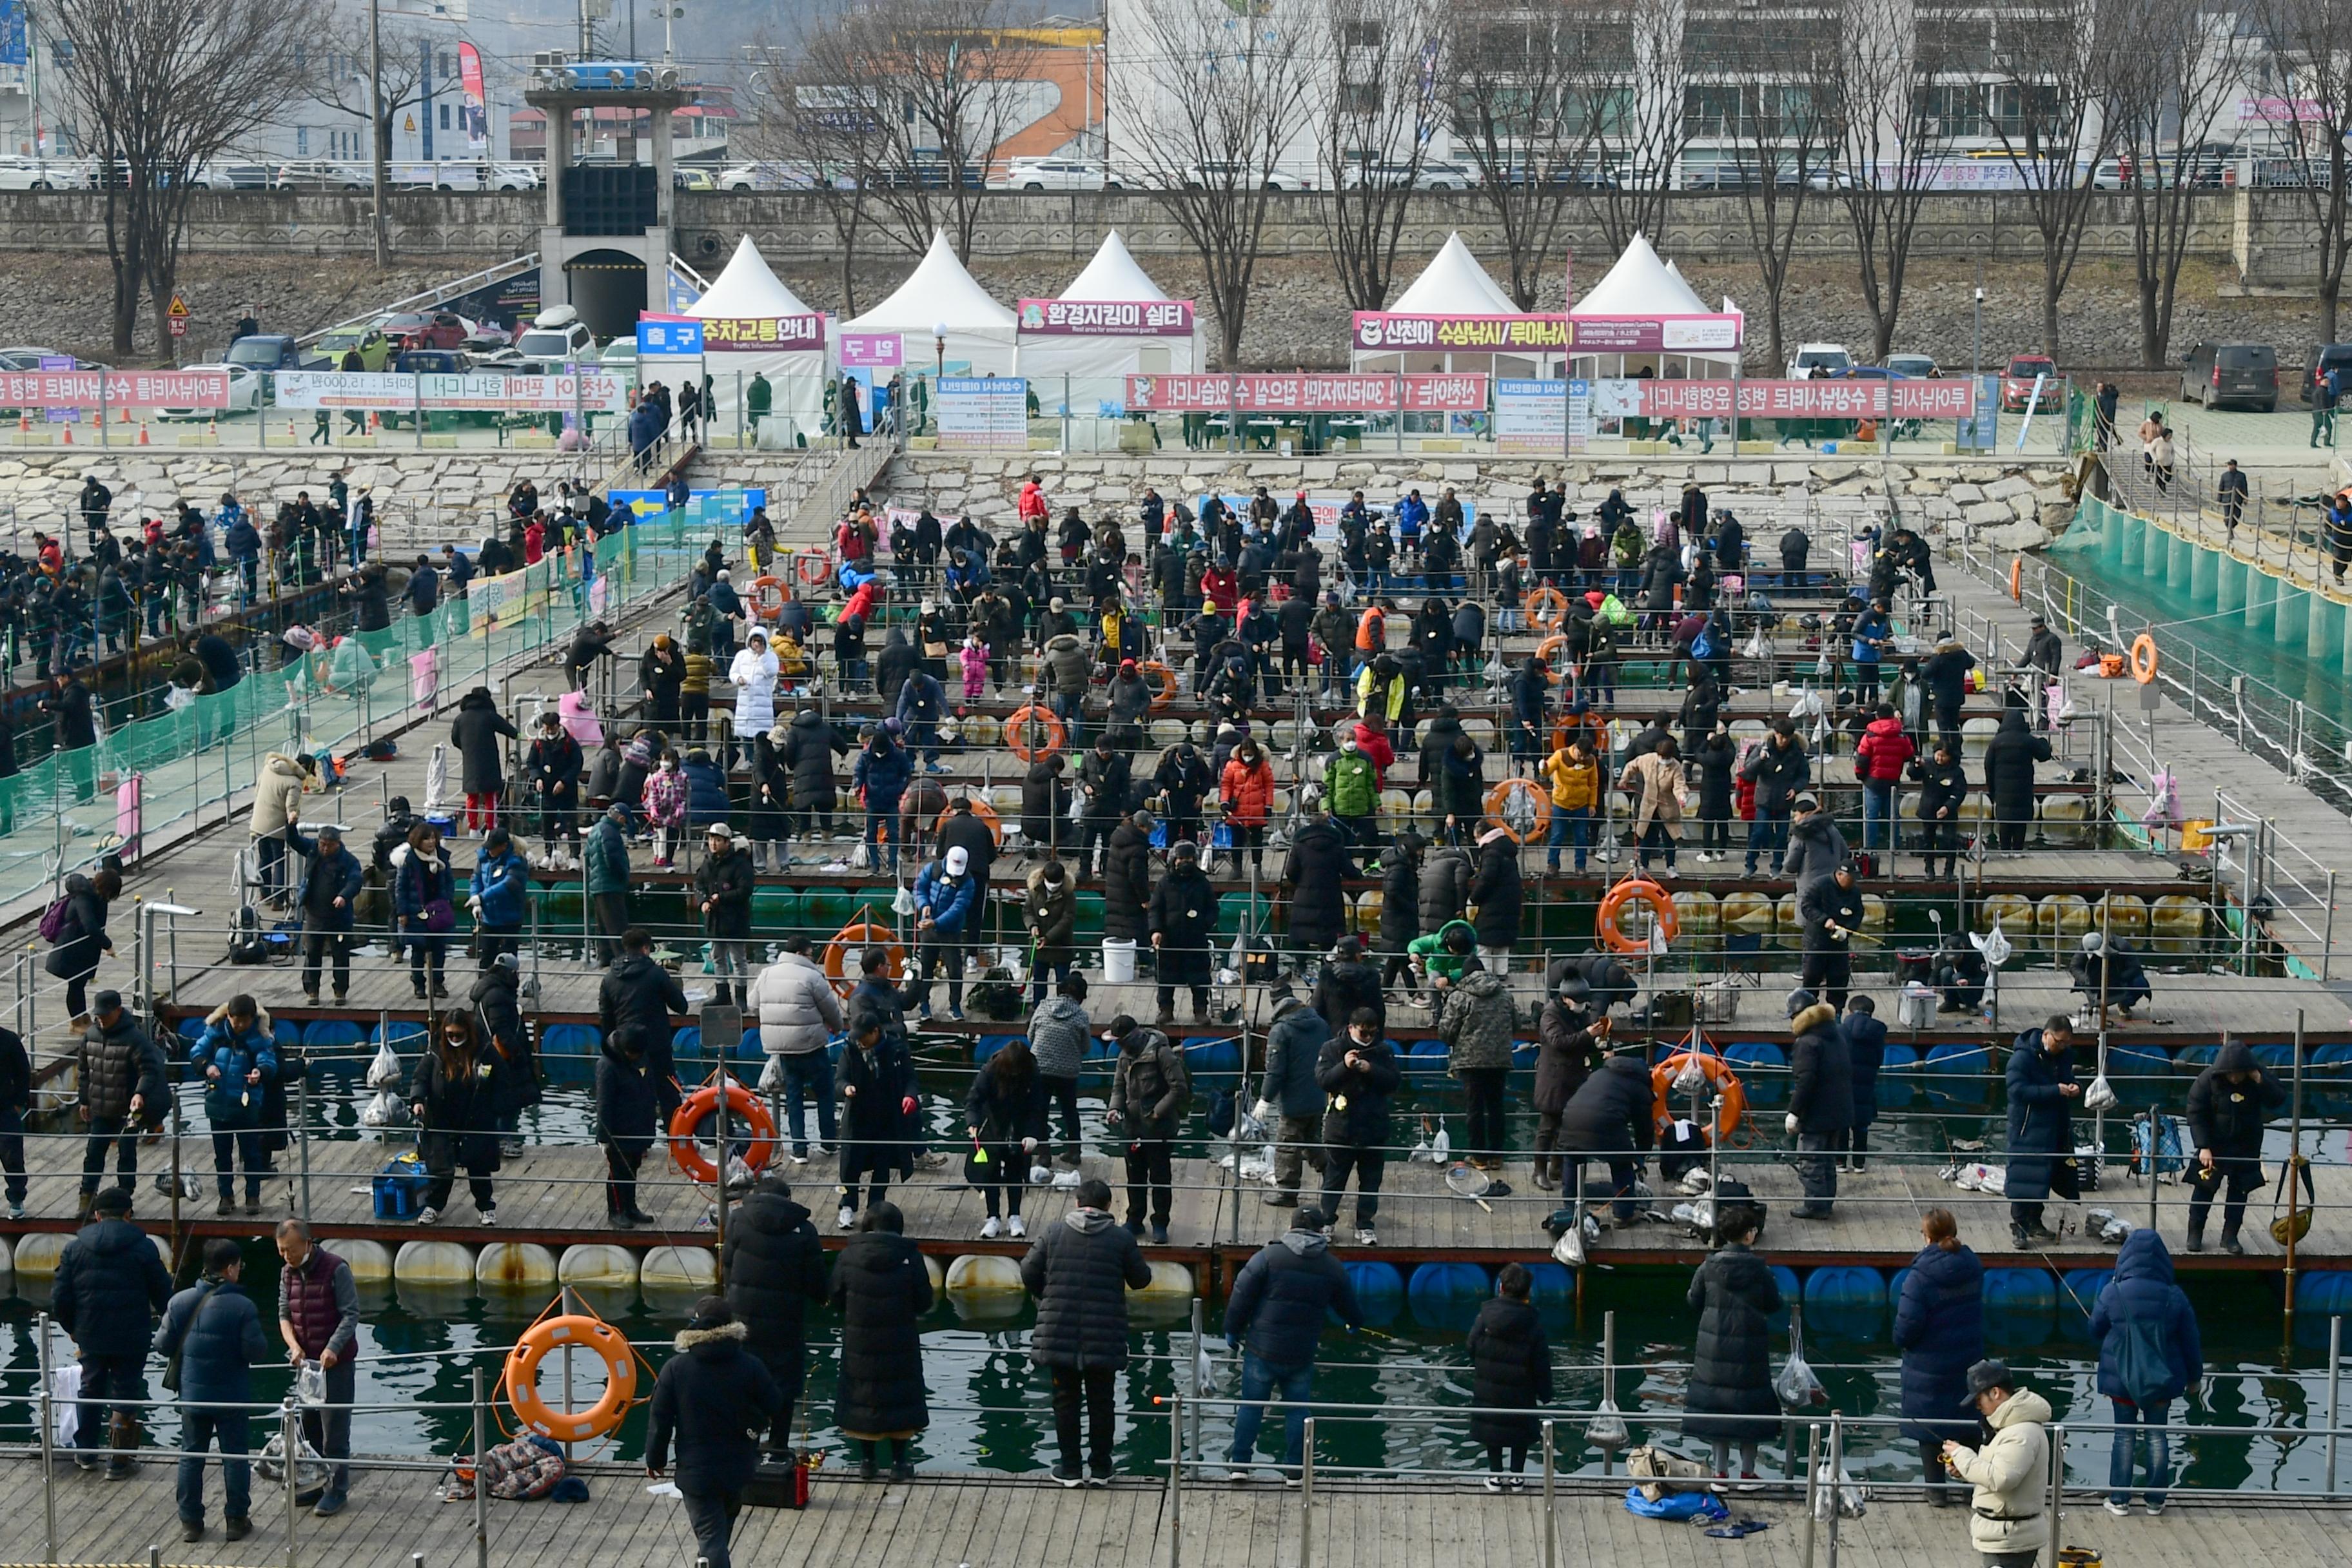
[[[2319,341],[2333,343],[2352,256],[2352,0],[2267,0],[2260,12],[2277,52],[2286,148],[2270,183],[2296,193],[2319,252]]]

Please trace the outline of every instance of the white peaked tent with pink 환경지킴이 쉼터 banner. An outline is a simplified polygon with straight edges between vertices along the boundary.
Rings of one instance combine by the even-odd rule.
[[[1136,266],[1120,230],[1103,235],[1094,261],[1056,299],[1021,301],[1018,336],[1021,374],[1047,404],[1061,402],[1063,376],[1073,383],[1070,402],[1091,407],[1124,400],[1127,376],[1190,376],[1204,364],[1192,301],[1169,299]],[[1080,378],[1089,386],[1075,386]]]

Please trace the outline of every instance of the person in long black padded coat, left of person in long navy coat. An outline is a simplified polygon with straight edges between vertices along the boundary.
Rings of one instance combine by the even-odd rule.
[[[1722,1248],[1698,1265],[1689,1293],[1698,1342],[1682,1429],[1715,1443],[1717,1476],[1729,1476],[1731,1443],[1738,1443],[1743,1481],[1757,1479],[1757,1441],[1780,1427],[1780,1399],[1771,1392],[1771,1314],[1780,1309],[1780,1286],[1748,1251],[1759,1229],[1762,1206],[1724,1201],[1715,1220]]]

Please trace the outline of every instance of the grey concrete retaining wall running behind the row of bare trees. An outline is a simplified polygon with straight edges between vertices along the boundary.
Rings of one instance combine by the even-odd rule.
[[[1265,228],[1265,256],[1322,259],[1329,254],[1322,195],[1277,195]],[[1816,216],[1799,237],[1799,256],[1839,256],[1853,249],[1844,209],[1813,197]],[[2197,195],[2187,254],[2232,261],[2258,277],[2293,277],[2310,270],[2303,202],[2296,193]],[[402,193],[386,202],[393,252],[400,256],[517,256],[539,244],[539,193]],[[1573,249],[1585,268],[1609,256],[1609,244],[1585,214],[1571,214],[1555,254]],[[1105,228],[1117,228],[1138,256],[1190,256],[1183,233],[1162,207],[1141,193],[1091,195],[990,195],[974,252],[978,256],[1094,254]],[[1491,214],[1475,193],[1423,193],[1414,202],[1399,247],[1402,256],[1428,256],[1461,230],[1472,252],[1501,254]],[[715,268],[734,252],[741,233],[753,233],[779,268],[837,266],[840,240],[821,197],[790,190],[677,193],[677,254]],[[877,252],[894,249],[875,226]],[[0,249],[96,252],[106,242],[106,197],[94,190],[21,190],[0,195]],[[372,252],[369,197],[365,193],[270,193],[219,190],[195,197],[188,249],[195,252],[299,252],[318,256],[365,256]],[[1740,197],[1677,197],[1658,249],[1682,261],[1731,261],[1752,252]],[[1985,261],[2039,259],[2025,197],[1931,195],[1919,223],[1915,256],[1966,256]],[[2084,237],[2084,256],[2131,256],[2126,197],[2098,200]],[[2249,266],[2251,263],[2251,266]]]

